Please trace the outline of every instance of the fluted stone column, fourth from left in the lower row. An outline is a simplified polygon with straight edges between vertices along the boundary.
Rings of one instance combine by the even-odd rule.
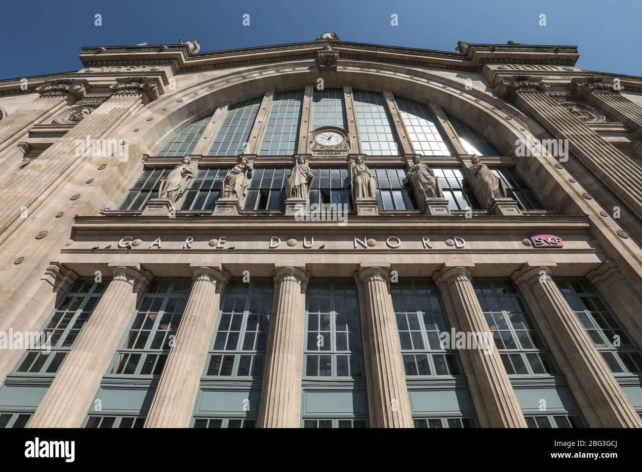
[[[388,290],[388,270],[362,267],[365,304],[364,333],[367,333],[372,371],[372,399],[375,428],[413,428],[410,399],[401,358],[401,344],[392,298]]]

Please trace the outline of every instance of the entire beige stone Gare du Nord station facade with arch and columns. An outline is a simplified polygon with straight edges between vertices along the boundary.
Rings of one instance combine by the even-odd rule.
[[[0,426],[642,426],[642,78],[199,49],[0,81]]]

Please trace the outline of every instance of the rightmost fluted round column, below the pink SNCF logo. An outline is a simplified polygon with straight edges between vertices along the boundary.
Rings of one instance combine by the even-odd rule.
[[[602,426],[642,428],[642,420],[550,274],[550,267],[525,265],[515,278],[517,284],[530,285]]]

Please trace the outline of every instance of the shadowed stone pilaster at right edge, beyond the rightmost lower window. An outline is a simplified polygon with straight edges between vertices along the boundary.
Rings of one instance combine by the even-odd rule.
[[[618,265],[613,261],[607,261],[586,274],[586,278],[615,311],[634,342],[642,346],[642,297],[630,286]]]

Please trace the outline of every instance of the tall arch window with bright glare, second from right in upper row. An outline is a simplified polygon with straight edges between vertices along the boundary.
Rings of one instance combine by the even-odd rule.
[[[427,105],[403,98],[397,98],[396,101],[408,139],[417,154],[452,155]]]

